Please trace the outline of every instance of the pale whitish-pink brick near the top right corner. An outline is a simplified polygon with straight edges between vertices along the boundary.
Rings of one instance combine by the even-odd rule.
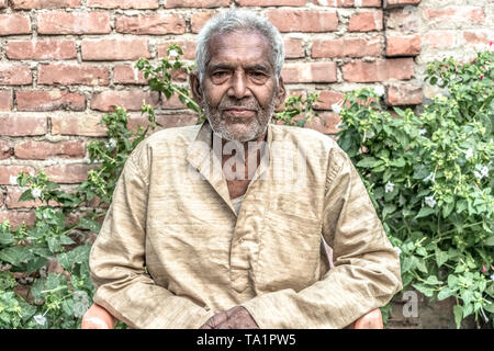
[[[426,9],[424,15],[433,22],[450,23],[465,22],[482,24],[485,22],[485,10],[474,7],[447,7],[440,9]]]

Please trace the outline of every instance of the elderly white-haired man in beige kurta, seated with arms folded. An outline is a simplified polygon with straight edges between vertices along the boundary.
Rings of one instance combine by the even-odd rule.
[[[207,121],[136,147],[90,256],[94,302],[130,327],[343,328],[400,291],[348,156],[270,124],[283,57],[279,32],[250,12],[199,34],[190,83]]]

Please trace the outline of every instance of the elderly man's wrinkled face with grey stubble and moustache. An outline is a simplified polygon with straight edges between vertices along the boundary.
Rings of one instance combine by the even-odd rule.
[[[257,33],[233,32],[214,35],[209,48],[211,59],[197,99],[213,131],[227,140],[258,138],[284,100],[283,82],[269,61],[268,41]]]

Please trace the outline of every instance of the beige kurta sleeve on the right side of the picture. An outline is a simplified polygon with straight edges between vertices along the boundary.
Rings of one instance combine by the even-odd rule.
[[[348,156],[330,151],[323,208],[334,268],[299,292],[258,295],[243,306],[260,328],[344,328],[402,288],[400,259]]]

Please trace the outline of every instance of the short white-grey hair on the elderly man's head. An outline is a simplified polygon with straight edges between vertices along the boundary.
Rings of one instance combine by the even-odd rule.
[[[195,44],[195,64],[198,65],[199,80],[202,82],[207,61],[211,59],[209,41],[215,34],[247,31],[259,33],[266,37],[272,47],[269,61],[274,69],[277,78],[281,75],[284,63],[284,46],[280,32],[265,18],[247,10],[229,9],[222,11],[199,32]]]

